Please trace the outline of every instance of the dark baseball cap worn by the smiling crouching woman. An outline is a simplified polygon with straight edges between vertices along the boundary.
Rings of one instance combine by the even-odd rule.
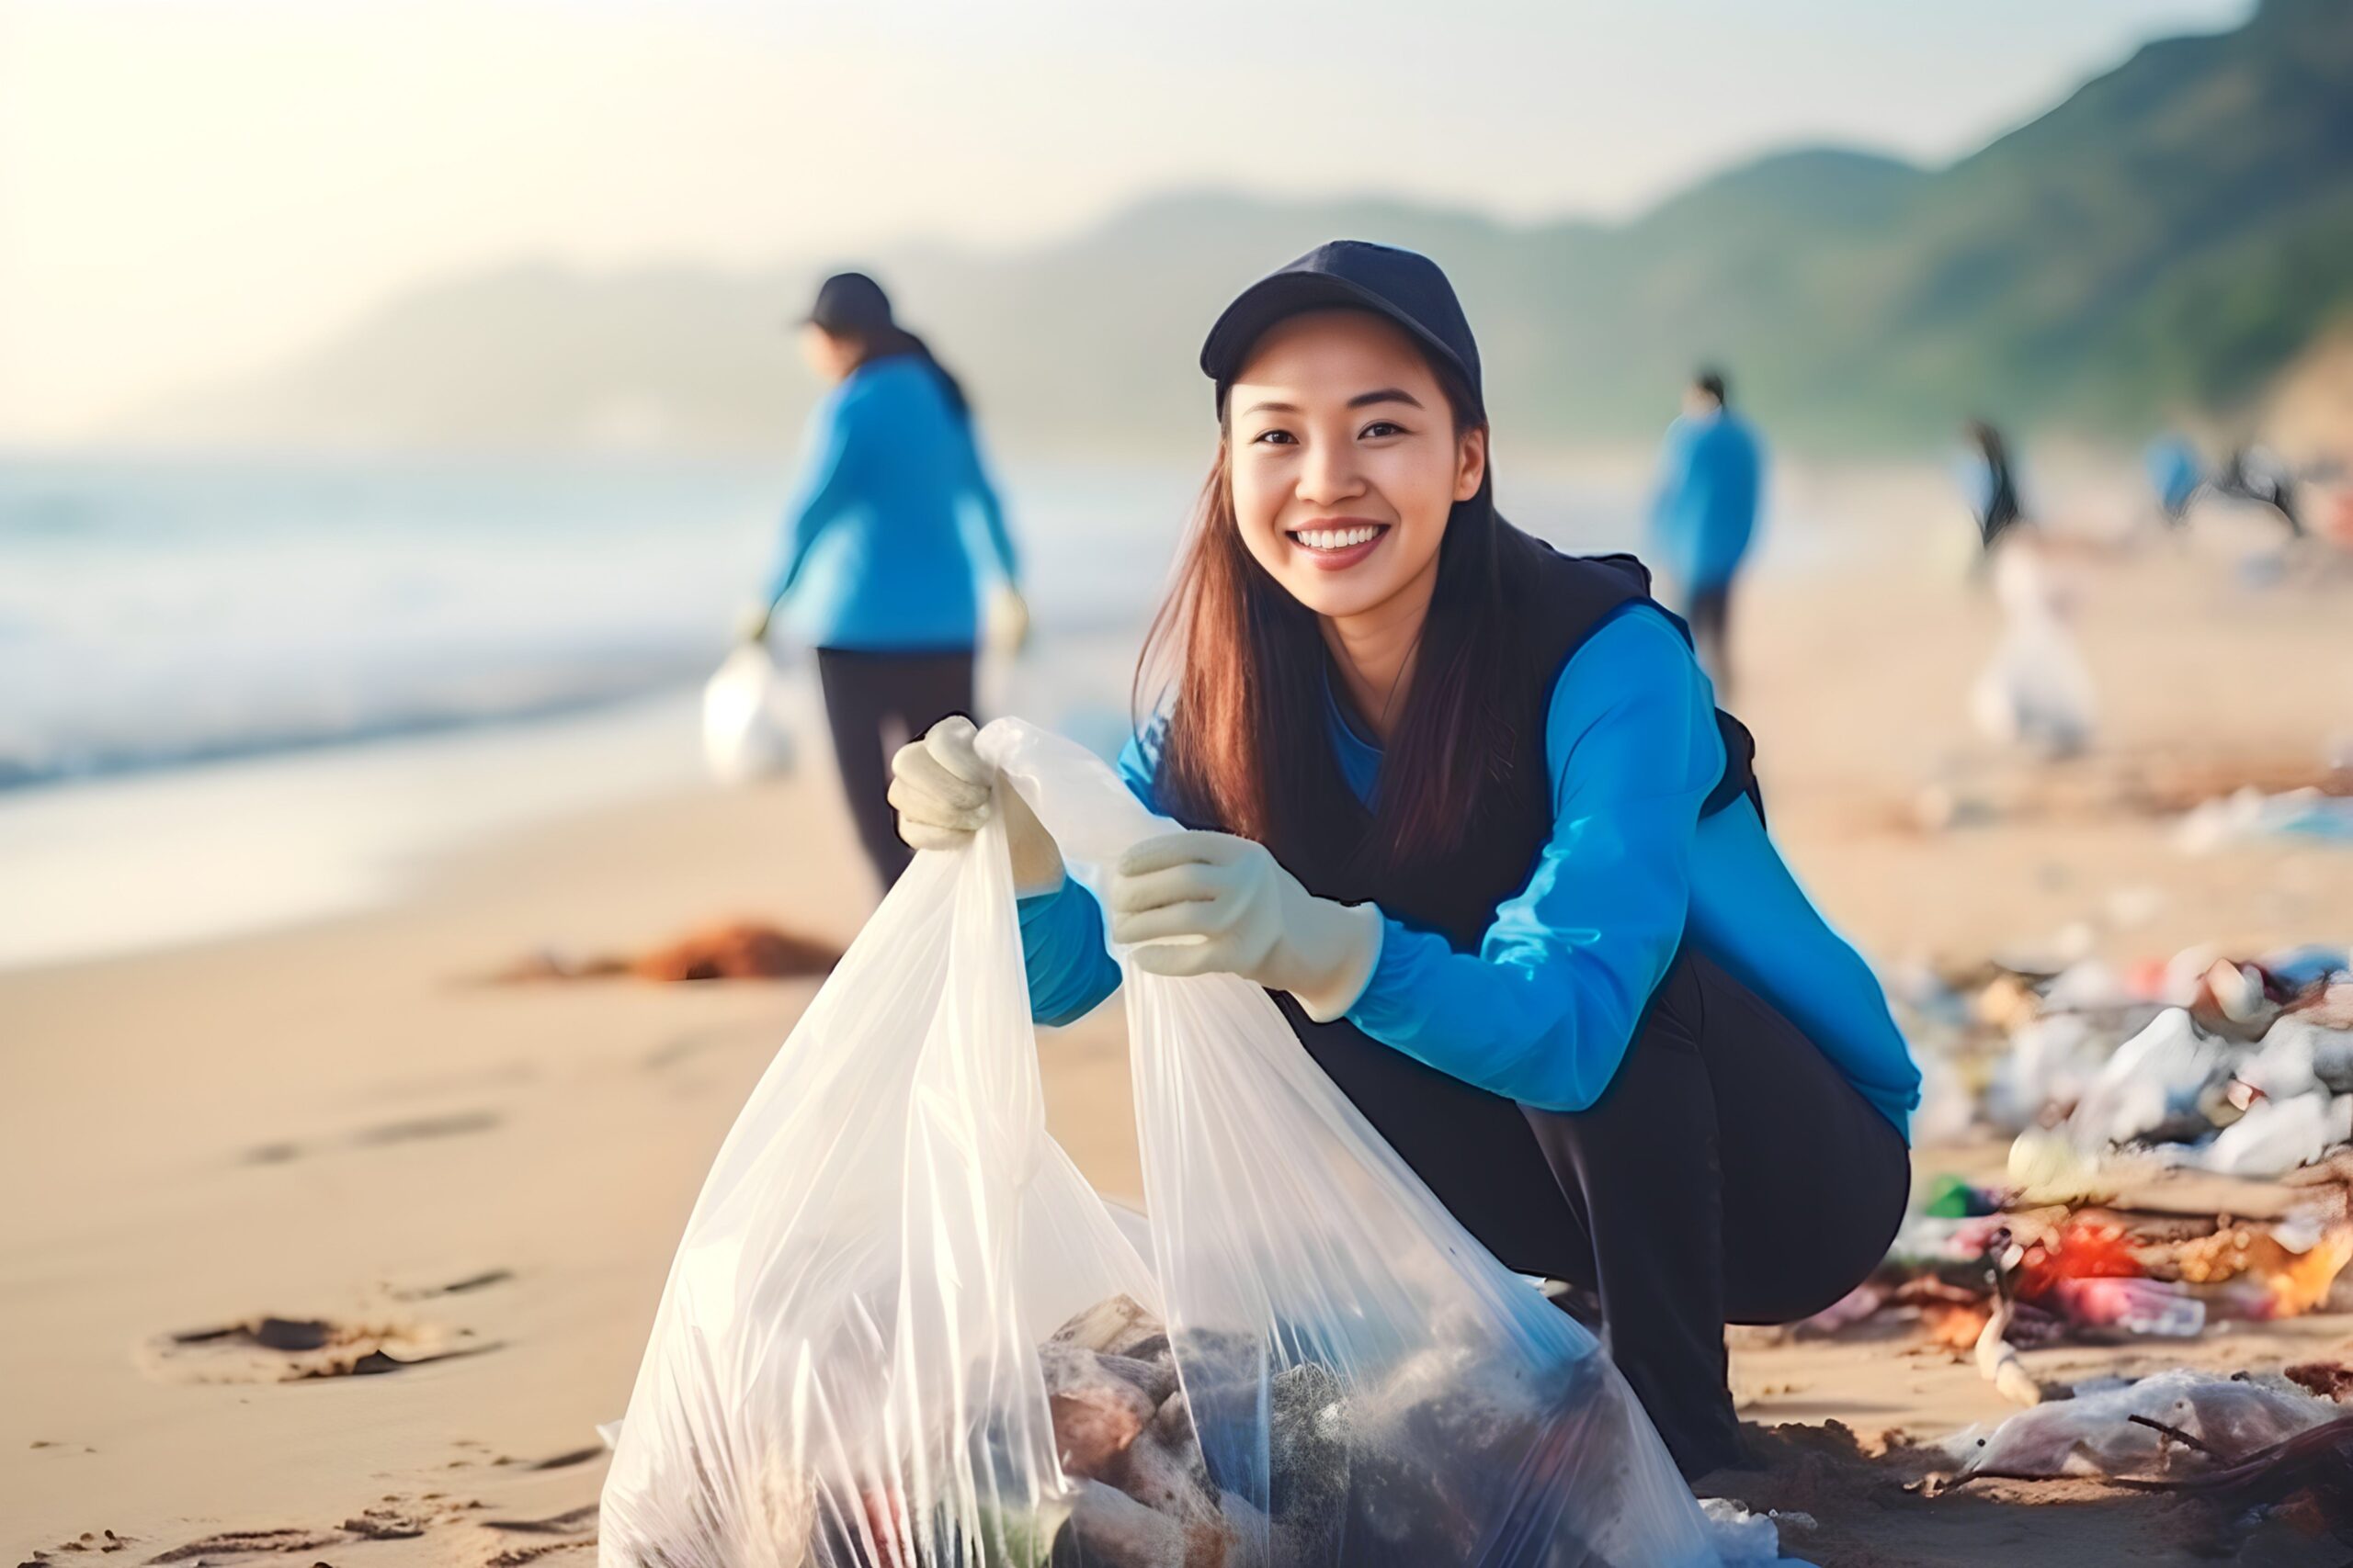
[[[1334,306],[1372,310],[1409,331],[1438,364],[1471,388],[1471,411],[1485,414],[1478,339],[1471,336],[1471,322],[1454,299],[1454,284],[1421,252],[1369,240],[1327,240],[1249,284],[1226,306],[1200,346],[1200,369],[1217,383],[1219,414],[1226,411],[1226,388],[1242,371],[1249,346],[1268,327],[1301,310]]]

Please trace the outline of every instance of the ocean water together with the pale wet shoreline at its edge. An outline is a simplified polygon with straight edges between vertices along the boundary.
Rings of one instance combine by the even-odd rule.
[[[984,661],[986,712],[1118,748],[1198,484],[1005,470],[1033,637]],[[367,907],[471,839],[694,788],[694,693],[788,487],[784,461],[0,456],[0,966]],[[1574,548],[1638,531],[1621,489],[1504,503]]]

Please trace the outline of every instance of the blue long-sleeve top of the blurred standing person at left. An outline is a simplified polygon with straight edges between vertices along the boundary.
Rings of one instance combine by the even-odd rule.
[[[821,649],[946,651],[979,642],[967,517],[1016,578],[1005,508],[972,421],[915,355],[871,360],[809,414],[767,602]]]

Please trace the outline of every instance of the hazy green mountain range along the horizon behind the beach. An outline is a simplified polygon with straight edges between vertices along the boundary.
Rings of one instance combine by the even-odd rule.
[[[1169,451],[1205,433],[1193,353],[1219,303],[1332,235],[1447,266],[1522,447],[1647,437],[1699,360],[1814,447],[1941,437],[1972,411],[2132,437],[2247,404],[2353,313],[2353,2],[2264,0],[2233,33],[2153,42],[1944,169],[1779,153],[1621,226],[1191,193],[1019,254],[852,261],[1000,444]],[[816,270],[459,277],[141,430],[772,449],[809,397],[784,320]]]

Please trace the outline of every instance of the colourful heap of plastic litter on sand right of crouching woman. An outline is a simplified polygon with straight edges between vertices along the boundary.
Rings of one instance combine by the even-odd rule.
[[[2353,954],[1988,964],[1897,997],[1920,1143],[2012,1133],[2007,1171],[1934,1178],[1871,1281],[1793,1333],[1908,1314],[2028,1406],[1948,1439],[1948,1486],[2085,1476],[2353,1528],[2353,1371],[2059,1387],[2019,1354],[2353,1305]]]

